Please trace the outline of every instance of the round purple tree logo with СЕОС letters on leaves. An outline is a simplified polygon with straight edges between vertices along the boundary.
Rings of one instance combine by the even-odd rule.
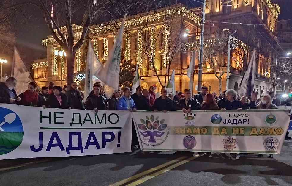
[[[141,139],[141,142],[147,146],[158,146],[165,142],[167,139],[170,129],[167,129],[167,124],[165,120],[162,119],[159,121],[159,116],[154,118],[154,115],[151,115],[150,118],[146,116],[146,120],[140,119],[141,123],[137,124],[138,128],[143,132],[139,133],[145,138]],[[167,134],[165,137],[162,137],[165,134],[165,129],[167,129]],[[157,143],[157,144],[148,144],[145,141],[148,140],[148,143]]]

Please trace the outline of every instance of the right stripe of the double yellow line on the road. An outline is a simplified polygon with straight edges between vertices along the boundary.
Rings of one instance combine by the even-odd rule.
[[[188,158],[188,159],[186,159],[186,160],[183,160],[183,161],[181,161],[181,162],[178,162],[178,163],[176,163],[176,164],[174,164],[174,165],[171,165],[171,166],[169,166],[169,167],[167,167],[167,168],[164,168],[164,169],[162,169],[162,170],[160,170],[160,171],[157,171],[157,172],[155,172],[155,173],[153,173],[153,174],[150,174],[150,175],[145,176],[145,177],[143,177],[143,178],[141,178],[141,179],[138,179],[137,181],[135,181],[135,182],[133,182],[133,183],[130,183],[130,184],[126,185],[126,186],[136,186],[136,185],[139,185],[139,184],[141,184],[141,183],[146,182],[146,181],[149,180],[149,179],[152,179],[152,178],[154,178],[154,177],[156,177],[156,176],[158,176],[158,175],[160,175],[160,174],[163,174],[163,173],[165,173],[165,172],[167,172],[167,171],[170,171],[171,169],[176,168],[176,167],[178,167],[178,166],[180,166],[180,165],[183,165],[183,164],[185,164],[185,163],[187,163],[187,162],[190,162],[190,161],[192,161],[192,160],[194,160],[194,159],[196,159],[196,158],[198,158],[198,157],[190,157],[190,158]]]

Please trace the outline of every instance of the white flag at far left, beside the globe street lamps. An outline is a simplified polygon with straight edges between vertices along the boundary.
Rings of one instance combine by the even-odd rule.
[[[35,83],[34,79],[29,74],[29,71],[27,70],[24,62],[22,61],[16,47],[14,47],[11,76],[14,77],[17,81],[15,87],[17,95],[25,92],[30,82]]]

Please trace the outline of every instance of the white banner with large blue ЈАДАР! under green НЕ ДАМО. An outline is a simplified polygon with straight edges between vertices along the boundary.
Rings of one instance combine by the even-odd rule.
[[[131,132],[129,111],[0,104],[0,159],[130,152]]]

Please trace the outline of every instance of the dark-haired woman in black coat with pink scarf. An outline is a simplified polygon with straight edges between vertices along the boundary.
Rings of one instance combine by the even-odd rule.
[[[56,109],[67,109],[67,97],[65,94],[62,93],[62,87],[54,86],[53,93],[50,94],[48,98],[47,105],[49,108],[56,108]],[[46,105],[42,106],[44,109]]]

